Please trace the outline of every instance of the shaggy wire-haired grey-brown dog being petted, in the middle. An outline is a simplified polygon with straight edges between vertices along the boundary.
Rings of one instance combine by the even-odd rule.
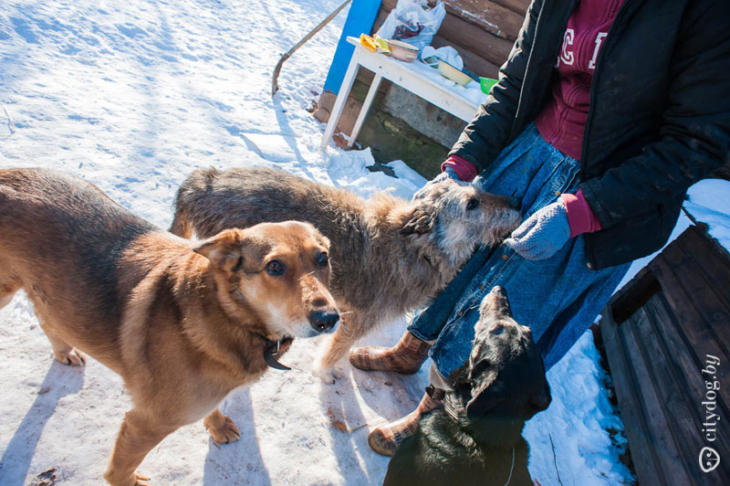
[[[319,364],[331,368],[357,339],[425,305],[454,278],[477,245],[499,241],[520,221],[514,197],[452,179],[430,183],[412,202],[348,191],[250,167],[193,172],[178,190],[172,233],[204,238],[262,221],[308,221],[332,242],[330,290],[342,322]]]

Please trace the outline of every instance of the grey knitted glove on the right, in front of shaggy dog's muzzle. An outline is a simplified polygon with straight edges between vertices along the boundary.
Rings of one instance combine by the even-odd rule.
[[[568,211],[559,200],[528,217],[505,240],[505,245],[526,259],[547,259],[563,248],[568,239]]]

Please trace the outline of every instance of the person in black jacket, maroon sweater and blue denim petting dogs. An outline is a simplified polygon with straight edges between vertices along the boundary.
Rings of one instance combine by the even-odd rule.
[[[399,343],[350,362],[415,373],[430,354],[433,385],[448,387],[498,284],[555,365],[631,261],[662,248],[690,185],[730,160],[728,18],[726,0],[534,0],[439,175],[481,174],[473,184],[522,198],[525,221],[478,250]],[[438,406],[424,396],[370,447],[391,455]]]

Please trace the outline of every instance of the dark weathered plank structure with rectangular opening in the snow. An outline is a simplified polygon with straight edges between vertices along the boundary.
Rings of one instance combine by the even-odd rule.
[[[725,249],[700,227],[687,228],[613,296],[602,315],[601,335],[639,483],[730,484]],[[711,365],[715,358],[719,364]],[[707,386],[715,382],[719,389],[710,392]],[[702,470],[707,458],[701,458],[703,450],[713,455],[707,447],[720,458],[709,472]]]

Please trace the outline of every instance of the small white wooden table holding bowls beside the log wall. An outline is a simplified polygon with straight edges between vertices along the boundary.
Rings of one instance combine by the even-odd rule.
[[[474,114],[480,103],[469,100],[449,87],[424,76],[418,72],[417,68],[413,66],[413,63],[403,62],[390,56],[384,56],[381,53],[370,52],[362,47],[360,39],[357,37],[348,37],[347,41],[355,46],[355,51],[352,53],[352,58],[349,61],[348,70],[345,72],[345,79],[342,79],[342,86],[339,87],[335,106],[332,107],[332,112],[329,114],[329,121],[325,129],[324,137],[322,137],[321,148],[324,149],[327,146],[329,138],[335,132],[335,127],[337,127],[339,117],[345,108],[345,101],[348,99],[349,91],[352,90],[352,83],[355,82],[355,76],[357,76],[360,66],[373,71],[375,78],[372,79],[368,95],[362,103],[358,119],[355,121],[355,126],[349,135],[349,147],[358,138],[360,128],[362,128],[362,122],[365,122],[365,117],[368,115],[372,100],[375,98],[375,93],[378,92],[378,88],[381,86],[381,79],[383,78],[401,86],[405,90],[411,91],[423,100],[433,103],[443,111],[448,111],[455,117],[464,120],[464,122],[471,122],[472,118],[474,118]],[[418,60],[414,62],[418,62]]]

